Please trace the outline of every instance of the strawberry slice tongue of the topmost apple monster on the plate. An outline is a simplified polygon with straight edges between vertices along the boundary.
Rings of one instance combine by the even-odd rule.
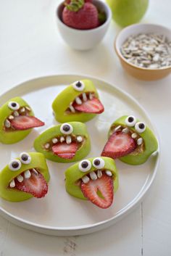
[[[104,112],[104,106],[101,104],[99,99],[96,98],[88,99],[86,102],[83,102],[80,105],[74,102],[73,107],[75,110],[84,113],[100,114]]]

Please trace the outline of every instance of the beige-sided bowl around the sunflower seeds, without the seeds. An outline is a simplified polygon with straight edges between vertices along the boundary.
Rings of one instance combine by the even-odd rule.
[[[171,30],[163,27],[162,25],[135,24],[122,29],[114,42],[114,49],[117,52],[117,56],[120,58],[122,67],[130,75],[133,75],[135,78],[140,80],[157,80],[169,75],[171,73],[171,66],[162,67],[160,69],[147,69],[131,64],[122,56],[120,51],[122,44],[129,36],[137,35],[139,33],[155,33],[157,35],[164,35],[169,39],[169,41],[171,41]]]

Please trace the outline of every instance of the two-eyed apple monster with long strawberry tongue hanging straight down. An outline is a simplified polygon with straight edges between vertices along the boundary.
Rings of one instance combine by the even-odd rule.
[[[103,209],[112,205],[118,189],[118,173],[114,160],[92,157],[70,166],[65,171],[67,192],[79,199],[88,199]]]

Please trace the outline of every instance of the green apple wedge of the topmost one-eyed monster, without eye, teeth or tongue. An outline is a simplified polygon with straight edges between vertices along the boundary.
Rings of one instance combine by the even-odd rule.
[[[67,88],[65,88],[56,97],[56,99],[54,99],[54,102],[52,103],[52,108],[54,110],[54,115],[59,123],[72,121],[85,123],[96,116],[96,114],[83,112],[68,113],[66,111],[70,107],[70,103],[74,102],[75,98],[77,96],[80,96],[80,94],[83,94],[84,92],[93,92],[96,98],[99,98],[98,92],[96,91],[96,88],[93,85],[93,82],[91,82],[91,80],[80,80],[80,82],[83,82],[84,84],[83,90],[77,91],[77,89],[75,89],[73,86],[74,83],[72,83],[70,84],[70,86],[67,86]]]

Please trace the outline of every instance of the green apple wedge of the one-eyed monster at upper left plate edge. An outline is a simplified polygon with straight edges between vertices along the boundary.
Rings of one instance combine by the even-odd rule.
[[[14,110],[11,110],[8,106],[9,102],[17,102],[20,107],[30,107],[27,102],[25,102],[20,97],[15,97],[13,99],[9,99],[1,108],[0,108],[0,142],[4,144],[13,144],[22,139],[25,139],[26,136],[30,133],[31,129],[25,131],[5,131],[4,130],[4,121],[12,115]],[[33,111],[29,112],[29,115],[34,115]]]

